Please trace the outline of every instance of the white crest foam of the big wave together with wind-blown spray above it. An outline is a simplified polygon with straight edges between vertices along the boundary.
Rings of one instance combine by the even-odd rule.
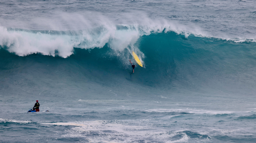
[[[46,26],[53,30],[75,29],[74,31],[80,31],[78,33],[75,32],[73,35],[8,31],[7,28],[0,26],[0,45],[7,46],[9,52],[13,52],[19,56],[41,53],[51,56],[58,54],[58,56],[66,58],[73,54],[74,47],[82,49],[102,48],[108,43],[116,51],[122,51],[131,47],[133,51],[136,51],[143,63],[144,54],[137,47],[134,47],[134,43],[142,35],[149,35],[152,32],[166,33],[173,31],[177,34],[183,34],[186,38],[190,34],[213,38],[213,36],[202,31],[195,25],[185,26],[166,19],[150,19],[146,15],[144,18],[140,18],[140,20],[139,18],[132,19],[133,24],[119,24],[121,27],[126,27],[124,29],[117,29],[114,22],[108,18],[104,18],[101,14],[97,14],[94,17],[91,16],[90,18],[84,18],[79,14],[65,14],[65,17],[63,15],[60,16],[60,21],[48,23],[50,26]],[[52,19],[38,19],[37,21],[40,20],[42,21],[41,23],[43,21],[52,21]],[[63,21],[67,22],[65,26],[61,24]],[[42,27],[45,26],[42,25]],[[219,37],[219,39],[232,40],[234,42],[256,42],[255,39],[247,38]]]

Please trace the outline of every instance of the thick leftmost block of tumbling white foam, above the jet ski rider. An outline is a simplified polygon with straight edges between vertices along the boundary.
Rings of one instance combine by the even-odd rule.
[[[0,27],[0,33],[0,45],[7,46],[9,52],[19,56],[34,53],[55,56],[55,50],[64,58],[73,54],[73,46],[68,43],[70,37],[67,35],[7,31],[4,27]]]

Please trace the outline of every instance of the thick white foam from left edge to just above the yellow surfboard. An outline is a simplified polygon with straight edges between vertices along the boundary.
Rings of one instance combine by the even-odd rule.
[[[33,33],[26,31],[8,31],[0,26],[0,45],[7,46],[9,52],[19,56],[40,53],[43,55],[66,58],[73,54],[73,48],[91,49],[102,48],[106,43],[118,51],[122,51],[139,39],[138,29],[116,30],[115,26],[103,25],[93,29],[83,30],[79,35],[52,35],[46,33]],[[97,32],[97,28],[100,32]],[[140,56],[140,55],[139,55]]]

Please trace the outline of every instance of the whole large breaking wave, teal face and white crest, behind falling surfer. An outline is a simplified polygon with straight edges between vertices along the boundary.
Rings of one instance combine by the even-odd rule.
[[[115,85],[116,82],[119,86],[125,86],[128,82],[160,89],[217,89],[228,93],[248,94],[255,92],[255,42],[236,43],[193,34],[186,38],[175,32],[142,34],[138,32],[140,30],[131,30],[132,28],[117,27],[117,34],[112,39],[105,38],[102,27],[96,28],[100,29],[95,36],[97,38],[87,39],[78,38],[83,31],[20,32],[5,29],[11,35],[9,39],[13,35],[16,37],[9,41],[2,40],[1,60],[6,62],[1,62],[1,69],[13,71],[36,63],[36,67],[30,67],[33,68],[32,74],[44,70],[46,73],[41,76],[48,75],[50,79],[55,70],[60,70],[55,67],[58,65],[61,70],[55,76],[62,77],[61,79],[70,78],[66,72],[69,71],[73,80],[83,77],[90,82],[100,81],[107,86]],[[120,37],[122,35],[130,38]],[[66,38],[69,40],[66,41]],[[94,48],[95,46],[99,48]],[[6,50],[18,55],[29,55],[19,57]],[[136,63],[132,51],[140,57],[144,67],[137,65],[135,73],[130,75],[129,59]]]

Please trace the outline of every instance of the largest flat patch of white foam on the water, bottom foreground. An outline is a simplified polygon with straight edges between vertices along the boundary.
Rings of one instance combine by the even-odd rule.
[[[76,126],[71,130],[66,130],[68,137],[84,137],[90,142],[112,142],[128,143],[144,140],[145,142],[163,141],[167,143],[186,142],[189,137],[183,131],[169,131],[166,129],[156,129],[150,126],[136,125],[136,122],[126,121],[88,121],[88,122],[68,122],[68,123],[42,123],[48,125],[71,125]],[[97,134],[90,135],[90,134]],[[182,135],[180,139],[172,139],[175,135]]]

